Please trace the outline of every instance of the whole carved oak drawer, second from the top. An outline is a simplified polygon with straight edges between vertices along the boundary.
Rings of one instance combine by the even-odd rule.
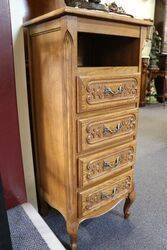
[[[135,139],[137,109],[78,120],[78,152]]]

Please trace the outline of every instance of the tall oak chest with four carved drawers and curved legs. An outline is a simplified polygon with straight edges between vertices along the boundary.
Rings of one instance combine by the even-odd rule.
[[[135,198],[141,51],[151,23],[65,7],[25,24],[39,198],[79,224]]]

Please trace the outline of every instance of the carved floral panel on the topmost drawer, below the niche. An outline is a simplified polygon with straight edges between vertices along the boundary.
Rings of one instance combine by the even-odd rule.
[[[87,86],[87,103],[104,102],[112,99],[135,98],[137,95],[137,81],[123,83],[91,82]]]

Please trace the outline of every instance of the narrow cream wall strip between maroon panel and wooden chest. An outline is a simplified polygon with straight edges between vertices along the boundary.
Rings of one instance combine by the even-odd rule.
[[[29,125],[26,74],[25,74],[24,42],[23,42],[23,29],[22,29],[24,6],[21,4],[21,1],[19,2],[19,4],[18,1],[16,0],[10,0],[9,2],[10,2],[11,23],[12,23],[16,94],[17,94],[19,128],[21,137],[25,184],[26,184],[28,201],[35,208],[37,208],[34,167],[32,159],[31,139],[30,139],[30,125]]]

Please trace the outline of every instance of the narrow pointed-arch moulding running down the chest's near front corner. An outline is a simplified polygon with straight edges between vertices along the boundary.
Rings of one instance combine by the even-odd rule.
[[[73,167],[74,165],[74,147],[71,146],[71,140],[73,139],[73,126],[71,124],[72,121],[72,112],[71,110],[73,109],[72,106],[72,88],[71,88],[71,82],[73,78],[73,46],[74,46],[74,40],[73,37],[70,33],[70,31],[67,29],[64,33],[63,37],[63,64],[64,64],[64,72],[63,72],[63,92],[64,92],[64,112],[66,113],[66,122],[63,124],[64,126],[64,131],[66,131],[66,143],[68,145],[67,147],[67,152],[66,152],[66,164],[71,165],[71,167],[68,167],[68,172],[67,172],[67,182],[69,184],[67,187],[72,187],[73,190],[70,190],[69,188],[66,189],[67,192],[67,197],[68,197],[68,214],[70,215],[69,218],[67,218],[67,221],[73,220],[75,217],[75,209],[73,207],[73,204],[75,204],[76,201],[76,196],[75,196],[75,185],[74,185],[74,176],[75,176],[75,168]],[[71,93],[71,94],[70,94]],[[77,184],[76,184],[77,185]]]

